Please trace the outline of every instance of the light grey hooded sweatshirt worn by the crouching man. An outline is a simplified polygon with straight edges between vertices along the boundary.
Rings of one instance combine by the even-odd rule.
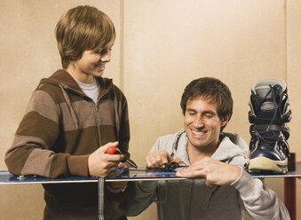
[[[206,185],[205,179],[139,181],[126,189],[128,216],[137,216],[153,201],[161,220],[238,220],[245,210],[253,219],[289,219],[281,200],[262,180],[250,177],[242,167],[247,161],[248,145],[236,134],[221,133],[220,144],[211,158],[241,167],[241,176],[232,185]],[[151,149],[166,150],[189,166],[185,130],[158,138]]]

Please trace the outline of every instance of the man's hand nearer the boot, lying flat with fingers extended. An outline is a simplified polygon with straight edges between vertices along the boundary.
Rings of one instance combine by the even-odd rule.
[[[231,185],[241,175],[237,166],[205,157],[187,169],[178,170],[178,177],[205,177],[206,185]]]

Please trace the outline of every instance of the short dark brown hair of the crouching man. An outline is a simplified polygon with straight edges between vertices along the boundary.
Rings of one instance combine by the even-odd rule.
[[[230,120],[234,101],[231,91],[225,83],[213,77],[202,77],[189,83],[183,92],[180,103],[183,114],[186,113],[187,101],[198,97],[210,100],[211,103],[217,103],[218,118],[223,121],[229,117]],[[221,130],[225,127],[226,125]]]

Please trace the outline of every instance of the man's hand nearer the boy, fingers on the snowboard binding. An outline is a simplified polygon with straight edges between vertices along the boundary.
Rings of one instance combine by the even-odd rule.
[[[165,150],[155,150],[154,153],[148,153],[146,158],[146,165],[148,168],[160,168],[164,163],[175,161],[181,162],[180,158],[173,158]]]

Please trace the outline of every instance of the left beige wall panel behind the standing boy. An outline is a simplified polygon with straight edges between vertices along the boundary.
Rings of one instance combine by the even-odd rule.
[[[120,1],[105,0],[0,0],[0,169],[6,169],[4,153],[28,105],[37,83],[61,68],[54,27],[59,17],[78,4],[98,7],[115,23],[117,38],[106,76],[120,84]],[[41,185],[1,185],[0,219],[43,218]]]

